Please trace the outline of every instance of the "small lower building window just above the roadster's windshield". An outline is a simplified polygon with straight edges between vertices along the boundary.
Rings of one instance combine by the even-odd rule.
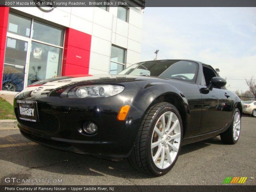
[[[125,62],[125,49],[112,45],[109,73],[111,75],[116,75],[121,71],[123,71],[124,62]]]

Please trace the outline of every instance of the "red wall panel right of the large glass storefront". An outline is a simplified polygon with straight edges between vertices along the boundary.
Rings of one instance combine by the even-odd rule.
[[[62,76],[88,74],[92,36],[72,28],[65,33]]]

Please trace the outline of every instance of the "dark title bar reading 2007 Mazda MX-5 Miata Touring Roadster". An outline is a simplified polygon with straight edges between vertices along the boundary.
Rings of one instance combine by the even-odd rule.
[[[0,6],[33,7],[34,3],[56,2],[54,7],[256,7],[256,0],[0,0]],[[102,2],[102,5],[95,3]]]

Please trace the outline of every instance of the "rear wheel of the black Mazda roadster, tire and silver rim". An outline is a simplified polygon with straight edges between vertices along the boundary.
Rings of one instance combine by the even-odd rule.
[[[226,144],[236,144],[239,139],[241,130],[241,114],[238,108],[235,108],[232,122],[228,130],[220,134],[220,139]]]

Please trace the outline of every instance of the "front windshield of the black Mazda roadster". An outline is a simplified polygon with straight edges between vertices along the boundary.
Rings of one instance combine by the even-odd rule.
[[[195,82],[198,64],[187,60],[156,60],[136,63],[118,75],[156,76]]]

